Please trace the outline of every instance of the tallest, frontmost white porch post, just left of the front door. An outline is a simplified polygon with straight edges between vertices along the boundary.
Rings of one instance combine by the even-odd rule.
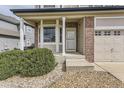
[[[65,17],[62,17],[62,53],[65,55]]]

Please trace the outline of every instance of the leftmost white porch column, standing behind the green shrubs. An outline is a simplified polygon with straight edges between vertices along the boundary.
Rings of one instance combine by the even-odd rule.
[[[20,18],[20,50],[24,50],[24,20]]]

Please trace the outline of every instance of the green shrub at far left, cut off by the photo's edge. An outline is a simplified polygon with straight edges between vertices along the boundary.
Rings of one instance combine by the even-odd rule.
[[[0,54],[0,80],[19,73],[18,59],[22,54],[23,52],[20,50],[6,51]]]

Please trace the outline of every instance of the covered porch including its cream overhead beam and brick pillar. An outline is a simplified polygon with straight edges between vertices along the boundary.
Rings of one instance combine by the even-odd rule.
[[[13,10],[22,18],[20,44],[23,50],[23,19],[35,27],[35,47],[49,48],[53,53],[81,54],[94,62],[94,16],[58,9]],[[73,9],[72,9],[73,10]],[[47,12],[46,12],[47,11]],[[49,11],[49,12],[48,12]]]

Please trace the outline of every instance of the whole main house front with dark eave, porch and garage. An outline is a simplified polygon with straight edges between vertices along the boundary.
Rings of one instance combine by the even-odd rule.
[[[124,6],[11,11],[35,27],[35,47],[78,52],[89,62],[124,62]]]

